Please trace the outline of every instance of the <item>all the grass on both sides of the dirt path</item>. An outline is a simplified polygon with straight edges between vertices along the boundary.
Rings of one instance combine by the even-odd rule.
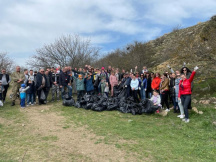
[[[114,145],[136,161],[216,161],[216,126],[212,124],[216,121],[215,105],[193,104],[203,114],[191,111],[191,121],[186,124],[173,112],[165,117],[158,114],[133,116],[118,111],[94,112],[64,107],[59,102],[52,104],[52,109],[46,113],[57,113],[65,118],[62,131],[70,129],[72,123],[76,127],[85,126],[102,137],[94,142],[95,146],[101,143]],[[31,128],[25,129],[24,133],[22,123],[29,119],[18,105],[11,107],[8,103],[0,107],[0,119],[0,161],[22,161],[24,156],[28,161],[31,155],[25,153],[33,148],[43,161],[46,154],[40,150],[51,149],[52,142],[59,140],[55,135],[34,135],[30,133]],[[79,155],[78,161],[82,160],[91,161]],[[48,161],[62,160],[56,157]]]

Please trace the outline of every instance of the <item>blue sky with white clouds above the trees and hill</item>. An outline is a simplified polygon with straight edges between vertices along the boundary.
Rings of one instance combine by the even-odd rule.
[[[90,38],[105,54],[207,21],[215,0],[0,0],[0,52],[17,65],[67,34]]]

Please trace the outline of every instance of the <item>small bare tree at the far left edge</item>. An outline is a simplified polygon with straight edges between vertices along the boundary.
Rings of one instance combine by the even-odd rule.
[[[13,64],[13,60],[8,57],[6,52],[0,52],[0,69],[5,68],[7,72],[11,72]]]

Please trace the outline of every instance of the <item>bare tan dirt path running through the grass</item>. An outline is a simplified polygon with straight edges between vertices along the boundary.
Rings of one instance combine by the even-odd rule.
[[[133,157],[114,145],[96,143],[97,137],[84,127],[75,127],[73,124],[64,129],[65,118],[56,112],[48,111],[51,106],[37,106],[21,110],[26,113],[31,129],[35,136],[54,138],[45,151],[46,159],[35,155],[34,150],[26,153],[34,161],[137,161]],[[44,148],[42,148],[44,149]]]

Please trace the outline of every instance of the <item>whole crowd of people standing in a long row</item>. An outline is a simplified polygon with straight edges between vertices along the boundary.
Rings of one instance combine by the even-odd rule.
[[[178,117],[189,122],[188,109],[191,108],[191,93],[193,78],[198,67],[192,72],[185,64],[181,70],[174,71],[169,65],[168,71],[160,74],[149,72],[147,67],[138,71],[137,66],[129,72],[119,68],[108,66],[108,68],[93,68],[85,65],[84,68],[72,68],[66,66],[40,68],[39,71],[24,69],[20,67],[11,75],[2,69],[0,74],[0,100],[5,102],[8,87],[12,85],[12,104],[15,105],[17,97],[20,98],[21,107],[37,103],[46,104],[48,95],[51,93],[51,102],[64,99],[65,94],[72,97],[77,93],[77,101],[84,94],[98,94],[114,96],[114,87],[121,84],[126,90],[126,96],[132,96],[135,102],[149,99],[154,105],[161,109],[170,111],[173,106],[174,113],[180,113]],[[170,72],[169,72],[170,70]],[[73,93],[72,93],[73,92]]]

